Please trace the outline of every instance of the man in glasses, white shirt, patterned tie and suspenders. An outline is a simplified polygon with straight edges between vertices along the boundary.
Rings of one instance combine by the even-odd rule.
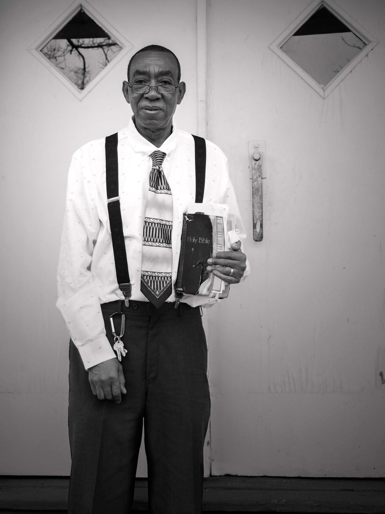
[[[123,82],[128,126],[72,158],[57,301],[71,335],[69,514],[129,512],[143,420],[149,511],[202,510],[210,397],[200,306],[212,299],[175,291],[183,213],[203,199],[237,215],[239,241],[207,268],[229,284],[246,270],[245,233],[226,157],[172,122],[180,76],[170,50],[139,50]]]

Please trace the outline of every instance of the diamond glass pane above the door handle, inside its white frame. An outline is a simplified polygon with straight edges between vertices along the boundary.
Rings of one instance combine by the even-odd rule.
[[[281,50],[322,87],[366,46],[325,7],[320,7]]]

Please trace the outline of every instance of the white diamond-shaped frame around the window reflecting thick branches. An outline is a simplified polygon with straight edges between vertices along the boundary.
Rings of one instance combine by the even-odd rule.
[[[53,36],[59,32],[71,19],[72,17],[83,9],[83,11],[88,14],[98,25],[100,25],[111,37],[122,47],[122,50],[115,56],[111,62],[107,64],[105,68],[102,69],[99,75],[97,75],[94,79],[92,79],[89,84],[83,90],[78,89],[75,84],[73,84],[60,70],[57,68],[49,59],[47,59],[43,53],[40,51],[45,45],[53,38]],[[75,0],[73,4],[71,4],[68,9],[63,12],[55,22],[30,46],[28,49],[31,54],[40,61],[57,79],[60,80],[62,84],[64,84],[71,93],[78,99],[83,100],[83,98],[88,95],[88,93],[97,85],[103,77],[115,66],[118,62],[133,48],[133,45],[129,41],[124,38],[122,34],[120,34],[115,28],[112,27],[104,17],[95,10],[86,0]]]

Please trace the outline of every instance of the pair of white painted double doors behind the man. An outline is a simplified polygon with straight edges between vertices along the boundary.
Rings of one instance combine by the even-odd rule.
[[[206,313],[211,471],[383,476],[383,2],[338,2],[380,43],[326,99],[268,48],[310,2],[207,2],[207,113],[204,0],[90,3],[132,49],[79,101],[28,52],[70,1],[0,1],[0,473],[69,473],[68,334],[55,308],[68,166],[127,123],[126,61],[156,42],[177,53],[187,83],[176,121],[205,135],[207,117],[249,233],[251,276]],[[260,243],[254,139],[267,158]]]

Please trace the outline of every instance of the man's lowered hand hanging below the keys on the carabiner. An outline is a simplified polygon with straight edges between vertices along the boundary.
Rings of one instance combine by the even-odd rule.
[[[92,393],[100,400],[122,401],[121,393],[126,394],[123,366],[118,359],[109,359],[88,370],[88,381]]]

